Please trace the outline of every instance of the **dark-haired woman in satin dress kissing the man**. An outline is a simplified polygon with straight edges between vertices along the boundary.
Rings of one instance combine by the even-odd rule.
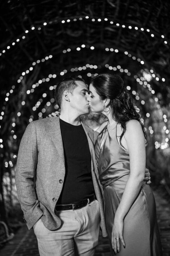
[[[143,182],[146,137],[140,116],[119,75],[99,74],[89,90],[91,111],[109,119],[98,129],[95,154],[112,255],[160,256],[155,200]]]

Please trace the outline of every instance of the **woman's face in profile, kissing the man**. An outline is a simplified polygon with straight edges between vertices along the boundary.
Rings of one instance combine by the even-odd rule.
[[[92,84],[89,86],[90,95],[87,100],[89,101],[90,110],[92,112],[101,113],[103,111],[104,100],[100,99],[99,94],[97,94],[96,89]]]

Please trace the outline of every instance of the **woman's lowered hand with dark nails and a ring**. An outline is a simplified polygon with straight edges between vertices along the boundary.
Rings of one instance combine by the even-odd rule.
[[[120,240],[124,248],[126,247],[125,241],[123,238],[123,228],[124,228],[123,219],[116,218],[115,216],[113,227],[112,227],[112,248],[115,253],[120,252]]]

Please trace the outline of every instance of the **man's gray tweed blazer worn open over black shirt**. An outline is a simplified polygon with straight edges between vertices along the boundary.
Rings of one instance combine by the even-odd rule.
[[[97,132],[82,123],[92,156],[92,179],[100,207],[100,226],[107,236],[102,187],[98,178],[94,143]],[[28,229],[41,218],[44,226],[55,230],[61,220],[54,213],[65,176],[65,160],[59,118],[31,122],[22,137],[16,165],[16,188]],[[56,200],[55,200],[56,199]]]

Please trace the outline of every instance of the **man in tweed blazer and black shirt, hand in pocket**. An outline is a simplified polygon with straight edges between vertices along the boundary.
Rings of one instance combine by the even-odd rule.
[[[80,121],[89,113],[87,97],[83,79],[63,79],[55,91],[60,118],[31,122],[20,143],[16,187],[40,255],[94,255],[99,220],[107,236],[93,146],[97,132]]]

